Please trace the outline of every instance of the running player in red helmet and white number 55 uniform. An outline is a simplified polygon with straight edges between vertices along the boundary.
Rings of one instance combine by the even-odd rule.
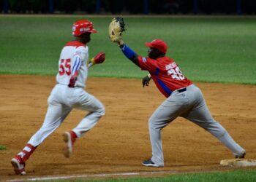
[[[105,114],[102,103],[83,90],[86,86],[89,67],[105,60],[104,52],[89,60],[87,43],[91,40],[91,33],[97,33],[91,21],[78,20],[73,24],[72,34],[75,40],[69,41],[61,50],[59,72],[56,76],[57,84],[48,98],[48,111],[42,127],[30,138],[24,149],[11,160],[16,174],[26,175],[26,160],[37,146],[60,126],[72,108],[89,111],[89,114],[73,130],[64,132],[65,157],[69,157],[72,153],[75,139],[91,130]]]

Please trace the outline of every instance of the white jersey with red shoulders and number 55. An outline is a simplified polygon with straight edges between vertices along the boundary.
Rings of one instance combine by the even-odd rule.
[[[68,85],[69,79],[78,72],[75,87],[85,87],[88,76],[87,60],[89,59],[89,47],[79,41],[69,41],[61,50],[59,58],[59,73],[56,81],[59,84]]]

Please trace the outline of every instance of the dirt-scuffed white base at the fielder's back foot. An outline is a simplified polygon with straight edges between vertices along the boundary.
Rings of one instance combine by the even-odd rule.
[[[256,166],[256,160],[255,159],[225,159],[220,161],[220,165],[236,166],[236,167]]]

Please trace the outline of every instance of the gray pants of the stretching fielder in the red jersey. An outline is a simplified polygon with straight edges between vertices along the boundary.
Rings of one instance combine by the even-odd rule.
[[[164,166],[161,130],[176,117],[182,116],[194,122],[219,139],[235,157],[241,157],[245,150],[230,137],[227,130],[216,122],[206,106],[203,94],[195,84],[191,84],[184,92],[175,91],[167,98],[150,117],[148,122],[152,146],[152,158],[157,167]]]

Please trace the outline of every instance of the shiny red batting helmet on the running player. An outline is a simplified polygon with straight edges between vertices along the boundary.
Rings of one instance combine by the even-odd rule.
[[[91,32],[97,33],[97,30],[94,29],[92,22],[89,20],[78,20],[72,26],[73,36],[80,36],[83,33]]]

